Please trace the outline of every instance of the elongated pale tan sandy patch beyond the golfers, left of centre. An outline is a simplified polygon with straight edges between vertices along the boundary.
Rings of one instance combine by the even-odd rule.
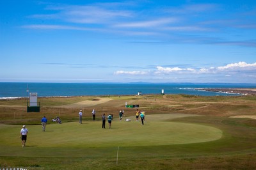
[[[93,105],[104,104],[109,100],[112,100],[112,99],[97,97],[97,98],[93,98],[93,100],[84,100],[82,102],[77,102],[75,104],[61,105],[60,107],[91,107]]]

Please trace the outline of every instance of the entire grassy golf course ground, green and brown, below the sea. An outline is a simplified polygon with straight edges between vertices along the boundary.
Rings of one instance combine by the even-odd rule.
[[[38,100],[40,112],[27,112],[26,98],[0,100],[1,169],[256,169],[255,95]],[[139,107],[127,108],[125,103]],[[145,111],[144,125],[136,121],[137,109]],[[102,128],[104,113],[113,114],[111,128],[108,120]],[[52,121],[56,116],[61,124]],[[22,125],[28,128],[24,148]]]

